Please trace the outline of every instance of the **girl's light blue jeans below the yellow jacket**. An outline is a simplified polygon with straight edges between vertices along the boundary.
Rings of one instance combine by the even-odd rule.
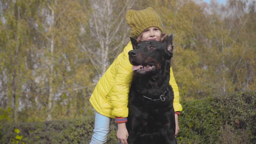
[[[111,121],[112,118],[103,116],[95,111],[94,130],[90,144],[105,144],[107,142]]]

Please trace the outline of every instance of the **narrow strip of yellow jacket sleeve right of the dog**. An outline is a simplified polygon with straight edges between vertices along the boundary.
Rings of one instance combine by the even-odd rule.
[[[173,107],[175,112],[182,111],[182,106],[180,104],[180,93],[178,85],[176,84],[174,74],[172,71],[172,67],[170,68],[170,85],[172,86],[173,92],[174,92],[174,100],[173,100]]]

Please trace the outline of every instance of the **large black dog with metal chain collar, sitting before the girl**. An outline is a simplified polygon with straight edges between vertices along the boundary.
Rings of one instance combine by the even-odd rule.
[[[177,144],[173,108],[174,94],[169,84],[172,35],[137,44],[129,54],[134,78],[129,93],[126,127],[128,144]]]

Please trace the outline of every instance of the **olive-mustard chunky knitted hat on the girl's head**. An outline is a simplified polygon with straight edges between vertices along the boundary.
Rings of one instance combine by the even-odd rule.
[[[162,31],[163,23],[156,11],[148,7],[144,10],[129,10],[126,14],[126,22],[132,28],[131,36],[137,38],[144,30],[157,27]]]

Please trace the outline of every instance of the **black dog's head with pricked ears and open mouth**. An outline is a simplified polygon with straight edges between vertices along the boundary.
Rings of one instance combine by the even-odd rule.
[[[128,52],[134,75],[146,75],[163,70],[172,58],[172,35],[161,43],[156,40],[142,41],[130,38],[134,50]],[[170,65],[169,65],[170,66]]]

